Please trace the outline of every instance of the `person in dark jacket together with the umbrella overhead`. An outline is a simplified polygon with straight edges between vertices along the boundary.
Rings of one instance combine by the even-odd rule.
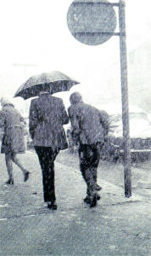
[[[53,210],[57,209],[54,160],[59,150],[68,148],[63,125],[69,123],[69,117],[63,100],[52,95],[75,84],[79,83],[59,71],[41,73],[31,76],[14,95],[24,99],[38,96],[31,100],[29,131],[42,168],[43,198]]]

